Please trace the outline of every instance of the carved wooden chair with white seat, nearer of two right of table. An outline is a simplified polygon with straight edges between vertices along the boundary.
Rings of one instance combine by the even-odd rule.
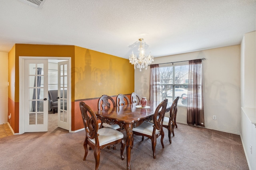
[[[154,123],[144,121],[138,127],[133,128],[133,133],[135,135],[142,136],[142,141],[144,140],[144,136],[151,139],[154,159],[156,158],[156,139],[160,137],[160,135],[161,135],[162,148],[164,148],[163,121],[164,121],[164,114],[165,114],[167,102],[168,102],[168,99],[164,99],[164,101],[162,101],[156,107],[156,110],[153,116]]]

